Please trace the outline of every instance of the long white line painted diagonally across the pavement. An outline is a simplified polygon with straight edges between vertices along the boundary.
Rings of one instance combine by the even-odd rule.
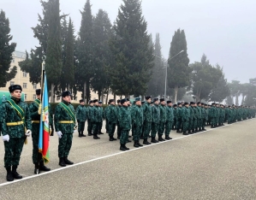
[[[254,119],[255,118],[249,119],[249,120],[254,120]],[[249,121],[249,120],[247,120],[247,121]],[[237,121],[237,122],[235,122],[235,124],[241,123],[241,122],[243,122],[243,121]],[[231,124],[231,125],[235,125],[235,124]],[[230,124],[225,125],[225,126],[230,126]],[[219,126],[217,128],[222,128],[222,127],[225,127],[225,126]],[[206,130],[204,132],[210,132],[210,131],[216,130],[217,128],[211,128],[211,129]],[[121,155],[121,154],[124,154],[124,153],[128,153],[128,152],[131,152],[131,151],[134,151],[134,150],[141,150],[143,148],[151,147],[153,145],[163,144],[163,143],[171,142],[171,141],[174,141],[174,140],[177,140],[177,139],[181,139],[181,138],[187,138],[187,137],[190,137],[190,136],[193,136],[193,135],[197,135],[197,134],[201,134],[201,133],[204,133],[204,132],[197,132],[197,133],[193,133],[193,134],[189,134],[189,135],[183,135],[182,137],[173,138],[173,139],[170,139],[170,140],[165,140],[164,142],[159,142],[159,143],[150,144],[150,145],[144,145],[144,146],[142,146],[140,148],[135,148],[135,149],[132,149],[132,150],[121,151],[121,152],[118,152],[118,153],[115,153],[115,154],[110,154],[108,156],[102,156],[102,157],[94,158],[94,159],[89,160],[89,161],[75,163],[74,165],[68,165],[68,166],[63,167],[63,168],[56,168],[56,169],[53,169],[53,170],[51,170],[49,172],[44,172],[42,174],[35,174],[35,175],[32,175],[32,176],[27,176],[27,177],[24,177],[23,179],[15,179],[14,181],[5,182],[5,183],[0,184],[0,187],[3,186],[3,185],[15,184],[17,182],[24,181],[26,179],[33,179],[33,178],[37,178],[39,176],[43,176],[43,175],[46,175],[46,174],[51,174],[51,173],[54,173],[54,172],[57,172],[57,171],[61,171],[61,170],[66,169],[66,168],[74,168],[75,166],[86,164],[88,162],[95,162],[95,161],[102,160],[102,159],[105,159],[105,158],[108,158],[108,157],[112,157],[112,156],[117,156],[117,155]]]

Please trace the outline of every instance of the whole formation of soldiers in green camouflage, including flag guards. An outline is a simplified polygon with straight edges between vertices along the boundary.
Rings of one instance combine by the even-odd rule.
[[[4,168],[7,170],[6,179],[22,179],[17,173],[21,151],[27,137],[33,137],[33,164],[34,173],[50,171],[45,167],[42,155],[39,153],[39,122],[40,122],[40,99],[41,91],[36,90],[37,99],[27,105],[21,101],[21,85],[9,86],[11,98],[1,105],[0,122],[2,138],[4,142]],[[71,92],[63,91],[62,103],[58,103],[54,113],[54,120],[50,115],[50,125],[55,126],[59,138],[58,157],[59,165],[65,167],[74,162],[68,160],[69,151],[72,146],[73,134],[76,132],[76,121],[80,137],[85,137],[84,129],[87,121],[87,132],[94,139],[99,139],[103,121],[106,121],[106,131],[109,133],[109,140],[115,141],[114,132],[117,126],[117,138],[120,139],[120,150],[129,150],[126,144],[131,142],[129,132],[132,131],[134,147],[143,144],[158,143],[169,140],[170,132],[176,129],[177,132],[189,134],[205,131],[205,124],[211,127],[223,126],[224,121],[229,123],[255,117],[255,108],[229,107],[212,103],[211,106],[204,103],[177,103],[172,105],[171,101],[165,103],[164,99],[146,97],[142,102],[136,97],[134,104],[127,98],[118,100],[110,99],[109,106],[102,108],[102,102],[93,100],[86,108],[83,100],[74,110],[71,104]],[[211,107],[211,108],[210,108]],[[51,109],[51,108],[49,108]],[[51,113],[51,112],[50,112]],[[158,140],[157,140],[158,135]],[[140,144],[140,138],[143,144]],[[151,142],[148,139],[151,138]],[[39,171],[38,171],[39,170]]]

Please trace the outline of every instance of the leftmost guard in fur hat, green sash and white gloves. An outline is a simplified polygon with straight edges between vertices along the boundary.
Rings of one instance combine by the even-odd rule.
[[[21,91],[21,85],[9,86],[11,98],[2,105],[2,138],[7,181],[22,179],[16,170],[20,163],[23,144],[32,133],[30,112],[27,103],[21,101]]]

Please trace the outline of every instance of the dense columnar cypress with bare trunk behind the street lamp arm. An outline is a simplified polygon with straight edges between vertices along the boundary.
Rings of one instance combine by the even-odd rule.
[[[184,52],[177,55],[182,50],[184,50]],[[189,59],[185,32],[184,30],[181,31],[178,29],[170,43],[168,59],[168,85],[175,90],[174,103],[177,101],[178,88],[189,85],[190,68],[188,68],[188,63]]]

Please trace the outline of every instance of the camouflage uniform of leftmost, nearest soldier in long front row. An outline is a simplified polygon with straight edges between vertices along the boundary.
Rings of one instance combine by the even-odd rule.
[[[126,144],[128,142],[128,134],[132,124],[131,114],[128,107],[125,106],[120,107],[117,114],[121,131],[120,144]]]

